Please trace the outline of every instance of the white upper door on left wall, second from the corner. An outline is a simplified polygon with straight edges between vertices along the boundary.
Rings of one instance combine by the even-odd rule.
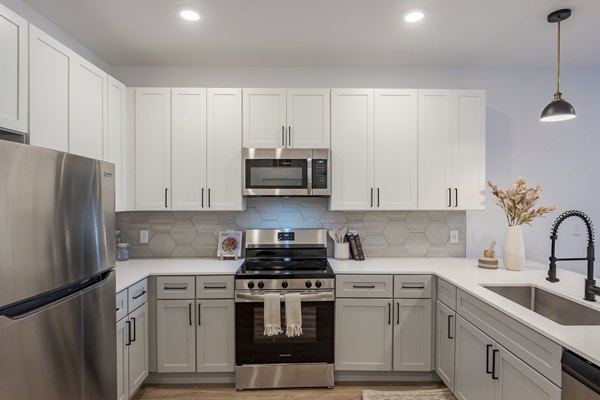
[[[102,160],[106,136],[106,72],[80,56],[69,72],[69,152]]]

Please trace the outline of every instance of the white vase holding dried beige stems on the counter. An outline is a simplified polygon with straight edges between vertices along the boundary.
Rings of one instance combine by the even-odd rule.
[[[516,182],[511,184],[506,192],[498,189],[490,181],[488,181],[488,186],[496,198],[496,204],[506,213],[508,222],[502,252],[504,266],[511,271],[520,271],[523,269],[525,261],[521,225],[531,225],[534,218],[554,211],[556,206],[534,208],[535,202],[541,197],[542,188],[539,185],[535,188],[527,188],[523,177],[519,177]]]

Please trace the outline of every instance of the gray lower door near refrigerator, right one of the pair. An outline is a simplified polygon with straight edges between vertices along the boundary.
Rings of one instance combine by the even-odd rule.
[[[148,303],[129,314],[129,394],[132,395],[148,376]]]

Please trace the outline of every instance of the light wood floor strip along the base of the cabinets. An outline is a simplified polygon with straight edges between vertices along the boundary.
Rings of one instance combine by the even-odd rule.
[[[237,391],[231,386],[210,385],[147,385],[141,388],[134,400],[204,400],[204,399],[243,399],[243,400],[361,400],[363,389],[404,391],[413,389],[437,389],[435,382],[407,382],[395,384],[365,383],[362,385],[337,384],[333,389],[278,389]]]

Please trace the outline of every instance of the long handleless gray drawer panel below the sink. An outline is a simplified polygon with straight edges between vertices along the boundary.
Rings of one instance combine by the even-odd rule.
[[[457,312],[533,369],[561,386],[562,347],[494,307],[458,290]]]

